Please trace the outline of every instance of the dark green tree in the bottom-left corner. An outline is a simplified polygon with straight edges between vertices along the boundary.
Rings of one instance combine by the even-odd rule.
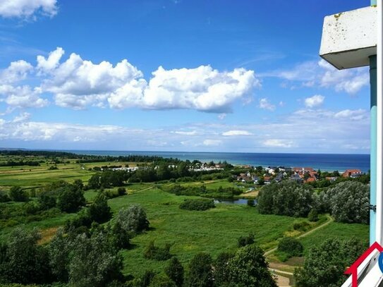
[[[47,250],[37,245],[39,233],[15,228],[0,246],[0,283],[49,283]]]

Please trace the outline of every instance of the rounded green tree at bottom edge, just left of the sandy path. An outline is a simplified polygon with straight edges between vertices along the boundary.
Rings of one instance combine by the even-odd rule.
[[[234,286],[276,287],[263,253],[255,245],[240,248],[229,260],[229,282]]]

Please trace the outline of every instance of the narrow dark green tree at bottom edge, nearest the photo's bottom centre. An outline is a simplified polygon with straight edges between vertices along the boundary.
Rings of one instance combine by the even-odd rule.
[[[212,287],[212,257],[207,253],[197,253],[189,263],[186,287]]]

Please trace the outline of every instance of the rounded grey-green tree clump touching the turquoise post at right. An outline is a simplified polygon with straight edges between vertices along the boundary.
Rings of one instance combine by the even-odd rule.
[[[344,181],[320,193],[320,207],[331,212],[335,221],[368,224],[370,188],[357,181]]]

